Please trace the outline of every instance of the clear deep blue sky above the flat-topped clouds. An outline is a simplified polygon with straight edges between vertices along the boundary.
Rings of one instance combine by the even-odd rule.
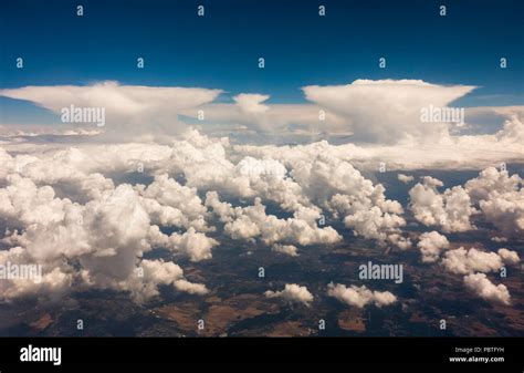
[[[222,89],[304,102],[301,87],[356,79],[481,86],[460,104],[524,102],[522,1],[72,1],[0,4],[0,87],[123,84]],[[198,18],[197,6],[206,6]],[[327,15],[317,15],[318,4]],[[448,15],[439,15],[439,6]],[[14,61],[24,58],[24,69]],[[136,68],[145,58],[146,69]],[[264,70],[258,69],[265,58]],[[387,69],[378,69],[378,58]],[[499,69],[501,56],[509,69]],[[0,99],[10,122],[40,113]]]

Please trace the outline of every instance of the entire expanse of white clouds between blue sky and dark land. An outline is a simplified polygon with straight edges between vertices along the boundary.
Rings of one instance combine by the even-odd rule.
[[[144,302],[163,286],[205,296],[206,284],[186,279],[177,262],[212,260],[223,238],[294,258],[305,246],[335,247],[353,234],[400,250],[412,248],[418,236],[423,262],[463,276],[473,294],[509,304],[505,287],[478,274],[517,265],[517,252],[457,248],[448,234],[482,229],[499,241],[522,236],[521,177],[484,165],[524,158],[524,111],[485,108],[506,118],[489,135],[461,135],[449,123],[420,122],[421,107],[447,106],[473,89],[359,80],[306,86],[312,103],[295,105],[271,104],[269,94],[258,93],[220,104],[214,102],[220,90],[116,82],[1,90],[0,95],[55,113],[72,104],[104,106],[108,117],[96,134],[94,128],[67,132],[67,137],[93,137],[74,146],[70,138],[38,143],[42,134],[63,135],[55,132],[2,136],[0,262],[38,262],[44,277],[40,283],[2,281],[0,297],[56,299],[76,290],[113,289]],[[353,134],[367,144],[234,144],[187,128],[182,117],[193,118],[203,132],[224,124],[223,131],[232,125],[275,135]],[[382,164],[406,172],[397,177],[410,188],[408,205],[388,198],[386,187],[369,176]],[[430,175],[420,180],[408,175],[416,168],[478,167],[484,168],[478,177],[452,187]],[[412,219],[429,231],[413,235]],[[145,259],[160,248],[172,253],[170,261]],[[390,292],[343,284],[331,284],[328,294],[359,308],[397,300]],[[313,301],[297,284],[266,296]]]

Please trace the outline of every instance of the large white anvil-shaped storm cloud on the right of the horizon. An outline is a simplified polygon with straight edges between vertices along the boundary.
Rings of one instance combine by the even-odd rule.
[[[310,85],[303,91],[307,100],[346,120],[355,138],[391,143],[447,135],[450,124],[423,123],[421,110],[446,107],[474,89],[420,80],[356,80],[346,85]]]

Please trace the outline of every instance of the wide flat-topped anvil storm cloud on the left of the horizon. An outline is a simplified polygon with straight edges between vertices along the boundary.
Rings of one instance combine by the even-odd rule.
[[[92,85],[24,86],[0,90],[0,95],[25,100],[61,114],[64,107],[103,107],[105,133],[112,138],[177,134],[186,128],[177,116],[212,102],[222,91],[199,87],[120,85],[104,81]],[[87,124],[88,125],[88,124]],[[96,128],[96,124],[92,124]]]

